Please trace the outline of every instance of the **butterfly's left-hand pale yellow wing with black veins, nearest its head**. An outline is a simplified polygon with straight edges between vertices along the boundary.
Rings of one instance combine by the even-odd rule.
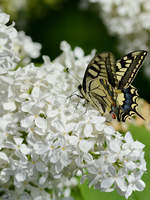
[[[101,113],[111,110],[113,86],[115,86],[115,59],[112,53],[96,55],[84,74],[78,89],[82,96]]]

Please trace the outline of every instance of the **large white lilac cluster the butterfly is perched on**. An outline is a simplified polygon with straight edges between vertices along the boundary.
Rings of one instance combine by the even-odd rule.
[[[68,98],[95,51],[85,56],[65,41],[61,50],[53,62],[44,56],[41,67],[29,63],[0,75],[1,198],[69,199],[79,173],[90,186],[128,198],[145,187],[144,145],[76,95]]]

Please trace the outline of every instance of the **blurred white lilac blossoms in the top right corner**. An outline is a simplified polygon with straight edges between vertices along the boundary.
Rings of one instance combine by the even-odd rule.
[[[100,7],[100,16],[103,18],[108,31],[117,35],[119,50],[122,53],[150,48],[150,1],[121,1],[121,0],[89,0]],[[145,74],[150,76],[149,63],[145,63]]]

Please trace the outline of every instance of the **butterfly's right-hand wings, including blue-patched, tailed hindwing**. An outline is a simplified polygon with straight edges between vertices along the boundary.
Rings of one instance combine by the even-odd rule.
[[[137,89],[131,83],[142,66],[146,55],[147,51],[145,50],[134,51],[123,56],[116,62],[116,74],[114,77],[117,82],[115,86],[117,109],[115,109],[115,114],[118,121],[125,121],[134,114],[137,114],[143,119],[137,112]]]

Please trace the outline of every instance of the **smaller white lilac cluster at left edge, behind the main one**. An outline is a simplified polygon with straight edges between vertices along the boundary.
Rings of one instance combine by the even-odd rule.
[[[0,10],[0,74],[25,65],[40,55],[41,44],[33,43],[23,31],[17,32],[14,23],[7,25],[9,15]]]

